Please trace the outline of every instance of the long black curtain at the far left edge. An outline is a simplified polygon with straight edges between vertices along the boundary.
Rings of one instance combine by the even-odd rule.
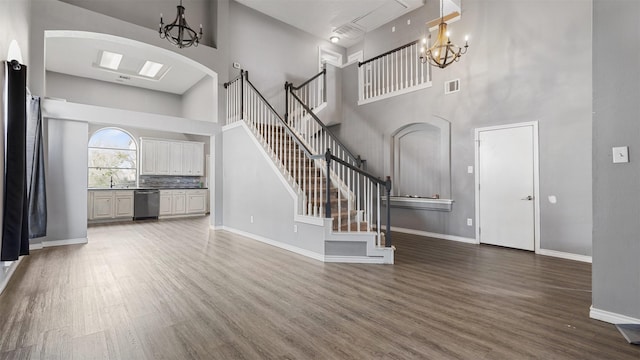
[[[27,67],[5,62],[6,114],[4,152],[4,211],[0,260],[29,254],[27,202]]]

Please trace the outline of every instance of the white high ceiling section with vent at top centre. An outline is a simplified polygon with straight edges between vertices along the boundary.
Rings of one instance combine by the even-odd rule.
[[[371,31],[424,5],[425,0],[237,0],[321,39],[354,45]]]

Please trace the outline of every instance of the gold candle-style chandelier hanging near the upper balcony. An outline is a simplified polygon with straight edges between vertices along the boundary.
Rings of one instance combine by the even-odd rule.
[[[467,52],[469,48],[469,37],[465,36],[464,46],[459,47],[451,43],[449,32],[447,31],[447,23],[444,20],[444,1],[440,5],[440,24],[438,25],[438,37],[436,41],[428,47],[427,38],[422,40],[422,49],[420,52],[420,61],[424,64],[427,61],[441,69],[451,65],[454,61],[459,61],[460,57]],[[429,34],[431,40],[431,34]]]

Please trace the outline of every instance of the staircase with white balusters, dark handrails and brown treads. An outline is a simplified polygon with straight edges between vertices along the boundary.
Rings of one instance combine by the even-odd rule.
[[[322,106],[322,97],[317,96],[322,94],[318,91],[321,86],[315,82],[319,75],[303,84],[314,89],[306,91],[319,101],[313,104],[316,108]],[[225,88],[227,126],[246,124],[297,195],[297,218],[325,227],[320,239],[324,242],[324,260],[393,263],[394,248],[390,237],[385,238],[381,231],[380,218],[381,198],[388,195],[390,180],[379,180],[359,168],[359,158],[295,93],[302,87],[286,86],[287,121],[253,86],[246,72]],[[386,213],[388,216],[388,207]]]

